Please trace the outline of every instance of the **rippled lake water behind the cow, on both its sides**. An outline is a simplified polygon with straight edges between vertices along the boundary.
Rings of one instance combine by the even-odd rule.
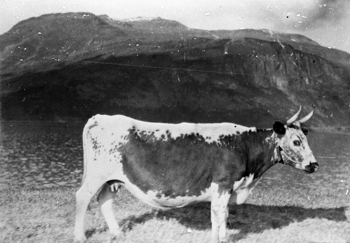
[[[78,186],[83,173],[83,127],[84,124],[2,121],[0,188]],[[320,169],[306,174],[277,164],[263,175],[258,187],[322,186],[338,190],[340,186],[345,190],[350,186],[350,135],[310,132],[307,137]]]

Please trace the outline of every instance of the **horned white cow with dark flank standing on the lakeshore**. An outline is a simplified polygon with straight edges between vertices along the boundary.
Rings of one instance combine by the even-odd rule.
[[[76,192],[75,241],[85,241],[84,217],[97,200],[110,233],[122,235],[112,201],[121,186],[159,208],[211,202],[211,242],[226,242],[228,204],[241,204],[276,163],[307,173],[318,164],[306,140],[314,109],[272,129],[233,123],[152,123],[123,115],[95,115],[83,131],[84,173]]]

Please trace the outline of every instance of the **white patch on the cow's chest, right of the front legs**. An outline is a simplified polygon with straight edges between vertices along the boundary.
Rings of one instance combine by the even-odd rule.
[[[233,191],[229,204],[242,204],[248,198],[254,186],[260,179],[253,180],[253,178],[254,174],[250,174],[233,184]]]

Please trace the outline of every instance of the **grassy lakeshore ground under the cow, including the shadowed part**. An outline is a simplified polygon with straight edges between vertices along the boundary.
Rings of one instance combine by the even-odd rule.
[[[0,191],[0,242],[72,242],[76,190]],[[336,190],[256,188],[246,203],[230,206],[230,242],[350,242],[349,199]],[[87,243],[210,241],[209,203],[159,210],[122,190],[114,205],[125,235],[111,237],[93,199]]]

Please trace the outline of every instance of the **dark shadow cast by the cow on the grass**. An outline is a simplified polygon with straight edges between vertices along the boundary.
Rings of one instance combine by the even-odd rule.
[[[303,208],[297,206],[258,206],[252,204],[229,205],[228,229],[238,229],[230,240],[238,241],[248,233],[260,233],[267,229],[288,226],[289,223],[305,219],[324,218],[332,221],[346,221],[345,207],[339,208]],[[126,230],[135,224],[151,219],[176,219],[184,226],[197,230],[211,229],[210,203],[203,202],[182,208],[154,210],[152,213],[131,216],[120,223]]]

